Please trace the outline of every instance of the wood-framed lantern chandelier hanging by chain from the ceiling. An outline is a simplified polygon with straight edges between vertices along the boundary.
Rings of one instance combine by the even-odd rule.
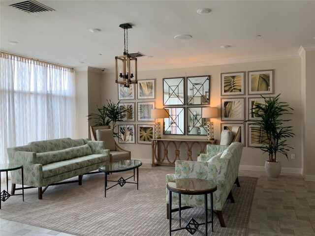
[[[131,29],[132,26],[121,24],[119,27],[124,29],[124,55],[115,57],[115,82],[129,88],[131,84],[137,84],[137,59],[128,54],[128,29]],[[134,80],[131,80],[133,78]]]

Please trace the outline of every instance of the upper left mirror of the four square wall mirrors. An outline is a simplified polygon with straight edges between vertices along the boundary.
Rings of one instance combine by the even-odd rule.
[[[164,105],[184,105],[185,80],[180,78],[163,79],[163,104]]]

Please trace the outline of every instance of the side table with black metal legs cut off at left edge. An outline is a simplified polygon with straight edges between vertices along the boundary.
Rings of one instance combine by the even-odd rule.
[[[22,193],[21,194],[9,194],[9,181],[8,181],[8,172],[15,171],[21,169],[22,172]],[[15,163],[4,163],[0,164],[0,174],[1,172],[6,172],[6,191],[3,190],[0,194],[0,209],[1,209],[1,201],[6,201],[10,196],[22,195],[24,202],[24,174],[23,174],[23,165],[15,164]],[[1,191],[1,181],[0,181],[0,191]]]

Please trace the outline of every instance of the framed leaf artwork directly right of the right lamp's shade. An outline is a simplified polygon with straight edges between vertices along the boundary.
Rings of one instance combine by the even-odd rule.
[[[245,118],[244,98],[221,98],[221,120],[239,120]]]

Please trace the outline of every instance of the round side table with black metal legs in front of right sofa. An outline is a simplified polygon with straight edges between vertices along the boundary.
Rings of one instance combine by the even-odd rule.
[[[201,235],[208,236],[208,223],[212,223],[213,232],[213,192],[217,190],[217,185],[212,180],[199,179],[199,178],[179,178],[175,181],[167,183],[167,189],[169,190],[169,235],[172,232],[186,229],[191,235],[196,231]],[[172,193],[179,194],[179,228],[172,230]],[[182,194],[188,195],[204,195],[205,202],[205,222],[198,223],[195,219],[191,218],[189,221],[185,220],[181,216]],[[211,198],[211,221],[208,221],[208,194]],[[181,221],[186,222],[186,226],[182,227]],[[205,233],[201,232],[198,227],[205,225]]]

